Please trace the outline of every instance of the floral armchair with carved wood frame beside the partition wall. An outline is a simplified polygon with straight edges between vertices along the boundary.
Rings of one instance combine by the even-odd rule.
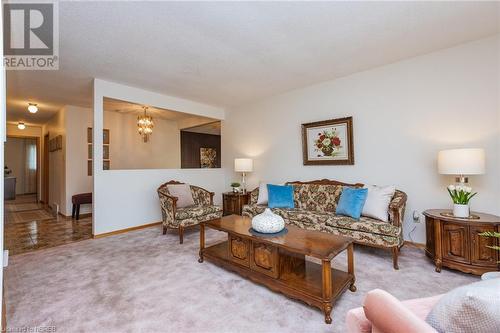
[[[171,180],[158,187],[158,197],[162,212],[163,234],[168,228],[177,229],[179,241],[184,242],[184,229],[198,225],[200,222],[222,217],[222,208],[213,204],[214,192],[207,191],[201,187],[190,185],[194,206],[177,207],[177,197],[170,195],[168,185],[183,184]]]

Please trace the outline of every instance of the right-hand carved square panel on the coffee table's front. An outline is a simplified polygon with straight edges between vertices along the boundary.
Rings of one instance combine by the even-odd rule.
[[[253,241],[251,243],[252,255],[250,268],[256,272],[278,278],[279,257],[278,248],[272,245]]]

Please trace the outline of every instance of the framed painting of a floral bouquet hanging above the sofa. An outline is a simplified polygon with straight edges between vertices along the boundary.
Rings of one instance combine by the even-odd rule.
[[[352,117],[302,124],[304,165],[352,165]]]

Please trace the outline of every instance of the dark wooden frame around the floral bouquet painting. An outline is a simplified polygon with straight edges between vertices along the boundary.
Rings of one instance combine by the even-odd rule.
[[[349,141],[349,154],[347,160],[310,161],[307,156],[307,129],[310,127],[329,126],[347,123],[347,140]],[[352,117],[329,119],[302,124],[302,158],[304,165],[353,165],[354,164],[354,142]]]

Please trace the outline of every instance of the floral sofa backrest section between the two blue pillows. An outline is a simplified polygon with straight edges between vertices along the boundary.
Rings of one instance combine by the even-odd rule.
[[[335,212],[342,193],[342,185],[299,183],[292,185],[295,208],[315,212]]]

